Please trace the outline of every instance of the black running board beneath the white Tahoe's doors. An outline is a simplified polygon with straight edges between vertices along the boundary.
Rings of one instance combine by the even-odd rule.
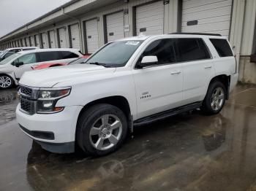
[[[158,121],[158,120],[164,120],[167,117],[171,117],[173,115],[180,114],[182,112],[189,112],[193,109],[197,109],[200,106],[202,106],[201,101],[195,102],[193,104],[188,104],[188,105],[185,105],[185,106],[180,106],[180,107],[177,107],[177,108],[174,108],[174,109],[167,110],[165,112],[152,114],[148,117],[143,117],[143,118],[140,118],[138,120],[135,120],[133,125],[134,126],[140,126],[140,125],[146,125],[148,123],[155,122],[155,121]]]

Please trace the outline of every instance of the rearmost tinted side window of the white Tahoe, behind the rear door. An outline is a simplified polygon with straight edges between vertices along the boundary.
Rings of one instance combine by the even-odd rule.
[[[233,56],[230,44],[228,44],[226,39],[210,39],[210,41],[214,45],[220,57]]]

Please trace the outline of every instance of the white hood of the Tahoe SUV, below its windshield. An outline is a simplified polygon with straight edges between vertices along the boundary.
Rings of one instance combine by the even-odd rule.
[[[27,71],[21,77],[19,84],[31,87],[53,87],[59,83],[71,86],[75,79],[90,78],[96,75],[113,73],[116,68],[105,68],[93,64],[75,64],[35,71]]]

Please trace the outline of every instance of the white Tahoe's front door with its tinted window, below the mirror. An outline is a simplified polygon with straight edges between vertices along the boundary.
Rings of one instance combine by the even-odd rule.
[[[182,63],[176,63],[173,39],[151,42],[139,61],[146,55],[156,55],[158,63],[133,71],[137,93],[137,119],[181,106],[183,101]]]

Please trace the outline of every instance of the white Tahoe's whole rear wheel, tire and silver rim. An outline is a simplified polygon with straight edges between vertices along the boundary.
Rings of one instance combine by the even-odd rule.
[[[227,98],[227,90],[222,82],[214,81],[208,87],[202,109],[206,114],[217,114],[222,110]]]

